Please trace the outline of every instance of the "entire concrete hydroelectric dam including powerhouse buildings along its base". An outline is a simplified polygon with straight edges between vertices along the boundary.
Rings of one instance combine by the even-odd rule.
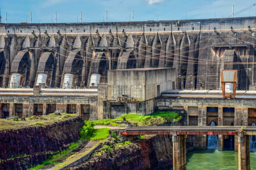
[[[256,133],[250,129],[256,122],[255,26],[256,17],[0,23],[0,118],[59,110],[101,120],[175,111],[184,127],[207,128],[194,134],[183,126],[167,130],[180,149],[175,170],[186,168],[184,146],[206,149],[207,135],[218,135],[218,150],[233,136],[233,148],[242,155],[239,166],[248,170],[249,135]],[[236,70],[236,86],[226,88],[229,96],[236,90],[236,97],[223,96],[227,70]],[[211,122],[230,133],[209,130]]]

